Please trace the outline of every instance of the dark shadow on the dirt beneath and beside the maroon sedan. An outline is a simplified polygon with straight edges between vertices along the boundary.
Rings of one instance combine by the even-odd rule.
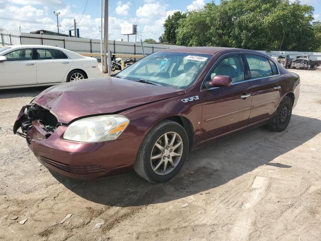
[[[179,174],[161,184],[149,183],[134,172],[94,181],[54,176],[75,194],[104,205],[126,207],[168,202],[208,193],[208,190],[263,165],[268,165],[267,169],[291,168],[270,162],[312,139],[320,131],[320,120],[292,115],[284,132],[259,128],[191,151]]]

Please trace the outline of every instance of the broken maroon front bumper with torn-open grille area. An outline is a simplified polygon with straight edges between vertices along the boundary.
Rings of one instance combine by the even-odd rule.
[[[63,139],[67,127],[59,123],[49,109],[28,104],[18,115],[14,133],[27,139],[29,148],[40,163],[65,176],[91,179],[131,169],[142,141],[141,136],[101,143],[80,143]],[[126,152],[119,147],[127,147]]]

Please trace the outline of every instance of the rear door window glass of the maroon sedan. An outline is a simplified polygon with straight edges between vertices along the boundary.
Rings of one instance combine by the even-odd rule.
[[[245,58],[250,68],[250,79],[262,78],[273,75],[272,68],[268,59],[258,55],[249,54],[246,54]]]

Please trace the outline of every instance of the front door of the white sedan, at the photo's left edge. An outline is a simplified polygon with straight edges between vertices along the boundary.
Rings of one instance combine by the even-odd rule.
[[[0,87],[37,84],[36,61],[33,49],[18,49],[4,54],[0,62]]]

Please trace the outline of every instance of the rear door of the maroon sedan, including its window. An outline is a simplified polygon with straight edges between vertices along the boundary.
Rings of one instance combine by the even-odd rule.
[[[248,78],[252,84],[252,109],[249,126],[273,116],[281,96],[281,79],[276,65],[261,55],[244,54]]]

